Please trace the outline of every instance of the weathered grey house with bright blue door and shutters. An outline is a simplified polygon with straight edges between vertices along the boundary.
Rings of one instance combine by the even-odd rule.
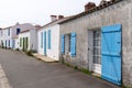
[[[91,9],[88,4],[85,10],[59,23],[61,59],[132,86],[132,0],[111,0]]]

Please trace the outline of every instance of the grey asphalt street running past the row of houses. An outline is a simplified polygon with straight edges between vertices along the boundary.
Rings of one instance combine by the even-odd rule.
[[[21,52],[0,48],[0,64],[12,88],[119,88],[59,63],[44,63]]]

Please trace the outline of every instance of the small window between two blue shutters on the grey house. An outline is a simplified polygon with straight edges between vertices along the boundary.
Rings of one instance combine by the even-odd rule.
[[[65,35],[65,54],[70,53],[70,34]]]

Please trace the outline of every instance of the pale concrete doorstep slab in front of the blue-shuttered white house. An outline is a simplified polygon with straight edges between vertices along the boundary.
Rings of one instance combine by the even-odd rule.
[[[41,55],[38,53],[33,53],[33,56],[36,57],[36,58],[38,58],[38,59],[41,59],[41,61],[44,61],[46,63],[56,63],[57,62],[57,61],[55,61],[55,59],[53,59],[51,57],[46,57],[46,56]]]

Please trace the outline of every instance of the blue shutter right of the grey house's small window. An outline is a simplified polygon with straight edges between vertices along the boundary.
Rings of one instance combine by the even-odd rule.
[[[70,35],[70,54],[73,57],[76,56],[76,33]]]

